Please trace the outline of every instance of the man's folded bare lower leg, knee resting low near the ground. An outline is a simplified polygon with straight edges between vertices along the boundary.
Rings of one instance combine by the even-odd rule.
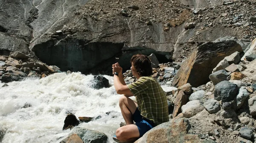
[[[136,124],[126,125],[116,130],[116,138],[120,141],[134,142],[140,137],[140,132]]]

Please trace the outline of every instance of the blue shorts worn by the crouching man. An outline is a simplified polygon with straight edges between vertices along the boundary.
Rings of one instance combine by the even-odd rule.
[[[142,137],[146,132],[154,127],[154,122],[147,118],[143,118],[143,116],[140,115],[140,111],[138,108],[133,114],[133,120],[139,129],[140,137]]]

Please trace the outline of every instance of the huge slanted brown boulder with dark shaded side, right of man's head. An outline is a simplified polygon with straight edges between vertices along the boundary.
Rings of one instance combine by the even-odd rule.
[[[242,52],[241,45],[236,41],[227,40],[223,42],[207,42],[197,47],[191,55],[181,64],[180,69],[174,76],[172,85],[180,87],[190,83],[192,87],[198,87],[209,81],[208,76],[214,67],[224,59],[224,57],[239,51]]]

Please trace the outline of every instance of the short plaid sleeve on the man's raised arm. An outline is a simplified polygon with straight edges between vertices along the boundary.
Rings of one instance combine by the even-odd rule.
[[[137,81],[128,84],[128,88],[134,96],[143,94],[145,93],[145,90],[148,89],[148,86],[145,84],[146,81],[146,79],[140,78]]]

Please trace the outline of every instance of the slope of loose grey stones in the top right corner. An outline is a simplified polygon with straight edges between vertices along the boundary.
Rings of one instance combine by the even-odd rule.
[[[256,38],[256,2],[251,0],[239,0],[222,5],[197,8],[189,20],[208,30],[210,27],[223,25],[239,31],[239,39],[252,41]]]

